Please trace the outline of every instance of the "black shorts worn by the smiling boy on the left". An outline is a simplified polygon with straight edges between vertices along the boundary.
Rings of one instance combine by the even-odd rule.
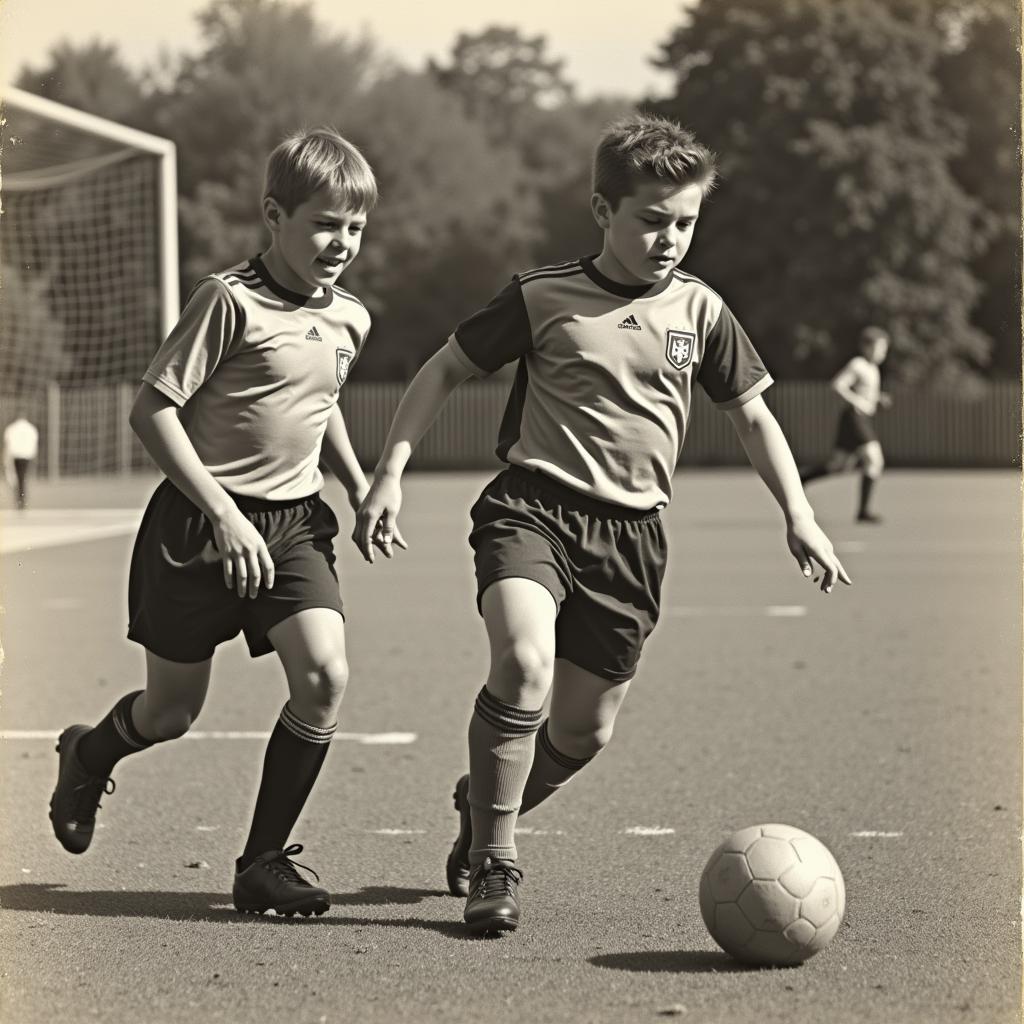
[[[228,590],[220,560],[202,559],[213,544],[209,520],[164,480],[150,499],[132,551],[129,640],[170,662],[205,662],[217,644],[243,632],[257,657],[273,649],[267,632],[297,611],[342,612],[334,568],[338,520],[319,495],[287,502],[232,497],[266,541],[273,590],[261,586],[254,598]]]

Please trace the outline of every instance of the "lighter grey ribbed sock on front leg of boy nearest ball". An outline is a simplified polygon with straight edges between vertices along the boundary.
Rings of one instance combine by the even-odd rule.
[[[515,860],[515,821],[534,761],[534,737],[544,712],[500,700],[486,687],[469,721],[469,809],[473,846],[469,862]]]

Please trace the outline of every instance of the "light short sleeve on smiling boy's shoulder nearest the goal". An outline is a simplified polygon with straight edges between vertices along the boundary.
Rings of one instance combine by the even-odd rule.
[[[210,379],[243,329],[242,311],[227,288],[205,279],[193,290],[142,380],[183,406]]]

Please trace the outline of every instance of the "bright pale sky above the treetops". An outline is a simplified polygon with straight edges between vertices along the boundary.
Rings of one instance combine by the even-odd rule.
[[[208,3],[0,0],[0,80],[9,82],[25,63],[40,67],[50,47],[65,39],[116,43],[135,67],[152,61],[162,48],[195,50],[195,15]],[[593,0],[312,0],[318,22],[339,34],[366,30],[382,51],[412,69],[422,68],[427,57],[445,57],[459,32],[511,25],[544,35],[547,53],[565,60],[582,98],[664,94],[671,78],[649,60],[684,5],[685,0],[629,0],[611,8]]]

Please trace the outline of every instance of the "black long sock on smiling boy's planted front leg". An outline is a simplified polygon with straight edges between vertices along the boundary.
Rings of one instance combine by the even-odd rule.
[[[337,724],[327,728],[303,722],[286,703],[263,759],[256,810],[246,848],[239,858],[245,870],[261,853],[283,850],[316,781]]]

